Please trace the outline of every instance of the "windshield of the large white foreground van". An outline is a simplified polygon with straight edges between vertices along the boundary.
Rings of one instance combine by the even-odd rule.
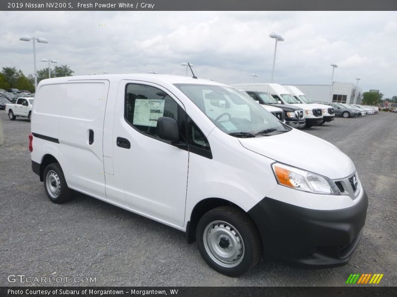
[[[241,138],[290,131],[250,97],[226,86],[175,84],[223,132]]]

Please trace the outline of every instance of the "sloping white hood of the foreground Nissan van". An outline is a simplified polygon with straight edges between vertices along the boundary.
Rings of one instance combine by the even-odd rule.
[[[341,179],[355,171],[353,162],[341,150],[297,129],[273,136],[239,138],[239,141],[244,148],[275,161],[330,179]]]

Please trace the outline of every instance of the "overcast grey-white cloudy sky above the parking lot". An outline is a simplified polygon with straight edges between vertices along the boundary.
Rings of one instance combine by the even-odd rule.
[[[42,58],[68,65],[74,75],[158,73],[185,75],[182,62],[194,64],[199,78],[219,82],[270,82],[278,43],[274,82],[280,84],[356,83],[397,96],[397,12],[205,12],[64,11],[0,12],[0,67],[33,73],[28,35]]]

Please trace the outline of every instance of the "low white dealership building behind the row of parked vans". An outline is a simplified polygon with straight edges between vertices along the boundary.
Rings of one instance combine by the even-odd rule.
[[[362,89],[357,88],[357,98],[354,100],[356,85],[353,83],[333,82],[333,85],[291,85],[301,90],[313,102],[338,102],[360,104]]]

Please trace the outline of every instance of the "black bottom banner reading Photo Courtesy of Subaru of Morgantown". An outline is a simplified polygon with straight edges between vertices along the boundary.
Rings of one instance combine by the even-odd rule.
[[[392,297],[397,287],[1,287],[1,297]]]

